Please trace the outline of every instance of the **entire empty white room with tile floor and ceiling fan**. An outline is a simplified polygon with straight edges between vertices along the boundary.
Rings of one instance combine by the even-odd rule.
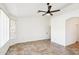
[[[79,4],[0,3],[0,55],[79,55]]]

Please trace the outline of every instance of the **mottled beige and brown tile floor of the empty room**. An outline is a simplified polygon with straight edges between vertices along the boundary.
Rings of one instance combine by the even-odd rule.
[[[74,47],[78,45],[78,47]],[[79,43],[63,47],[49,39],[18,43],[9,47],[6,55],[78,55]]]

